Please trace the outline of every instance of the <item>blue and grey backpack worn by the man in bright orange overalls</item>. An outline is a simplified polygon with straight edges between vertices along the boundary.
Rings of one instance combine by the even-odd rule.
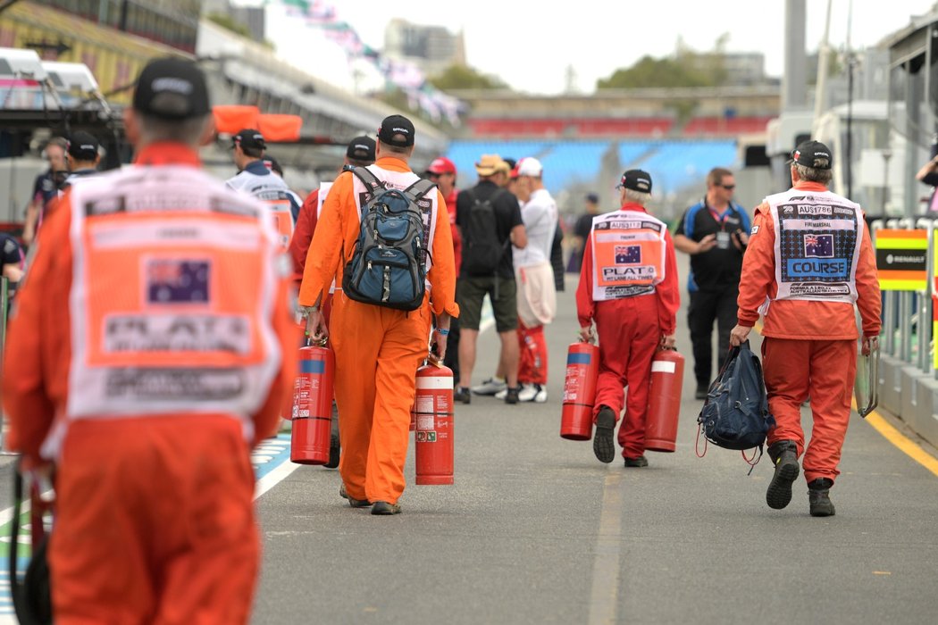
[[[353,173],[372,197],[361,207],[358,240],[345,265],[342,290],[356,302],[416,310],[427,290],[428,253],[417,202],[436,185],[418,180],[401,191],[386,188],[364,167]]]

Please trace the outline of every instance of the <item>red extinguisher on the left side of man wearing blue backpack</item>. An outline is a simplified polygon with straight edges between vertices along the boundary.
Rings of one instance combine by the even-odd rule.
[[[335,370],[335,355],[325,344],[300,348],[290,445],[290,460],[298,465],[329,461]]]

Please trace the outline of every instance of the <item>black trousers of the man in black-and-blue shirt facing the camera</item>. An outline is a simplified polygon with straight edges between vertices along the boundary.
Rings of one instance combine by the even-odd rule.
[[[730,331],[736,325],[736,285],[723,290],[698,290],[690,293],[688,327],[694,350],[694,377],[697,386],[707,388],[713,381],[713,322],[717,321],[717,367],[730,349]]]

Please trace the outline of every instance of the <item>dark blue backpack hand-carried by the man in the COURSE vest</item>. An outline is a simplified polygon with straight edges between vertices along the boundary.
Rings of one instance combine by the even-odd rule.
[[[710,384],[697,423],[703,436],[718,447],[740,451],[758,447],[762,457],[775,417],[768,411],[762,365],[749,350],[749,341],[730,350]]]

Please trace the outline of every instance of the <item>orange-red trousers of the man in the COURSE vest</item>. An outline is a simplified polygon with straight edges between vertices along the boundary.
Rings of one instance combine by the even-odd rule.
[[[850,422],[856,375],[855,340],[794,340],[765,337],[763,370],[768,408],[776,426],[768,443],[794,440],[804,454],[805,479],[837,479],[840,449]],[[810,397],[814,424],[805,449],[801,404]]]

